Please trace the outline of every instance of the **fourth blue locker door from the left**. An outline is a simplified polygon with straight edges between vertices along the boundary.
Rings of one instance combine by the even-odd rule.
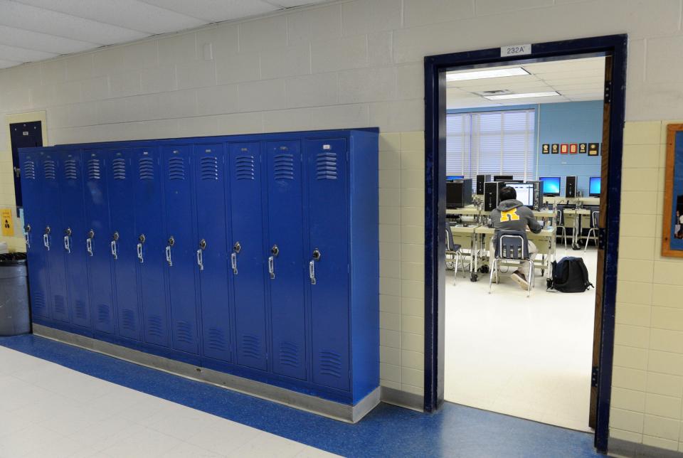
[[[85,230],[82,240],[88,255],[88,292],[92,329],[114,334],[116,331],[114,301],[112,297],[112,230],[109,220],[109,198],[103,150],[83,151],[85,170]],[[80,238],[80,234],[78,237]]]

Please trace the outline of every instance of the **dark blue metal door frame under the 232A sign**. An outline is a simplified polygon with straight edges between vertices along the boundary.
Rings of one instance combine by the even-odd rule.
[[[514,57],[502,57],[500,48],[425,57],[425,411],[437,410],[443,403],[446,158],[445,154],[439,152],[446,149],[445,70],[512,60],[603,53],[612,57],[613,65],[595,447],[599,452],[607,452],[614,352],[627,42],[628,38],[624,34],[534,43],[530,55]]]

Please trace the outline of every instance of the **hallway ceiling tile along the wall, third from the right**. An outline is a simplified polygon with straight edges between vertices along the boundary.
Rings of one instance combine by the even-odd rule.
[[[206,24],[206,21],[201,19],[137,0],[15,1],[150,34],[181,31]]]

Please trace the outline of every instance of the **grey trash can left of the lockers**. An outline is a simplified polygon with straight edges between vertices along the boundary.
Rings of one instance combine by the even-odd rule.
[[[26,253],[0,255],[0,336],[31,332]]]

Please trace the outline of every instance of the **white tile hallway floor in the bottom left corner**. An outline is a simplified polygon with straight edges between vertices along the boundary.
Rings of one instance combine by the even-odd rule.
[[[0,457],[332,457],[0,346]]]

